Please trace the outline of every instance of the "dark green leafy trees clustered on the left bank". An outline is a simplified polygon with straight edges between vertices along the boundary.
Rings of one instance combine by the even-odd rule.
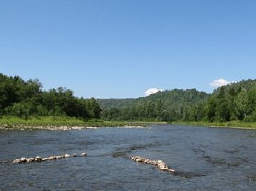
[[[70,116],[87,120],[100,118],[101,109],[94,98],[77,98],[70,89],[43,91],[38,79],[25,81],[0,73],[0,115]]]

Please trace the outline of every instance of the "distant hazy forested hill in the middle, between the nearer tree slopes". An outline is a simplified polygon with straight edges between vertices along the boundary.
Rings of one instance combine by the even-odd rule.
[[[107,120],[173,121],[183,108],[202,102],[209,94],[196,89],[173,89],[136,99],[98,99]]]

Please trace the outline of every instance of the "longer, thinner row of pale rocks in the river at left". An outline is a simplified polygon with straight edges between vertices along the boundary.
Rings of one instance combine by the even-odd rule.
[[[79,154],[80,157],[85,157],[86,153],[81,153]],[[61,158],[70,158],[70,157],[78,157],[77,154],[64,154],[64,155],[59,155],[59,156],[50,156],[50,157],[46,157],[46,158],[42,158],[42,157],[32,157],[32,158],[18,158],[13,160],[13,163],[30,163],[30,162],[43,162],[43,161],[47,161],[47,160],[56,160],[56,159],[61,159]]]

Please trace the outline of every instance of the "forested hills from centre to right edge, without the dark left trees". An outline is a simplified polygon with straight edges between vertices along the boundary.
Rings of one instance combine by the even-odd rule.
[[[99,103],[109,106],[104,109],[106,120],[255,122],[256,80],[222,86],[212,94],[174,89],[127,102],[124,99],[119,107],[115,99],[99,100]]]

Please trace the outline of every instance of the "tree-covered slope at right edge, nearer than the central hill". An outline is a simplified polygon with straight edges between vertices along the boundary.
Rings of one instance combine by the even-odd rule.
[[[201,110],[201,111],[200,111]],[[198,121],[199,113],[203,119],[213,121],[256,121],[256,80],[242,80],[237,83],[222,86],[200,104],[187,108],[184,120]]]

